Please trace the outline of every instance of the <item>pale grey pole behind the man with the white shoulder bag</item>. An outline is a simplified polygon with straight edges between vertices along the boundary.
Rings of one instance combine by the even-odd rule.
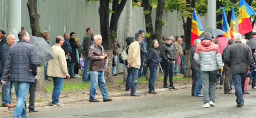
[[[126,1],[126,5],[124,7],[125,11],[125,17],[124,17],[124,45],[123,45],[123,50],[125,51],[126,49],[126,38],[127,37],[132,37],[132,0],[127,0]],[[123,82],[126,82],[126,78],[127,78],[127,68],[126,65],[124,63],[124,68],[123,68],[123,72],[124,72],[124,78],[123,78]]]

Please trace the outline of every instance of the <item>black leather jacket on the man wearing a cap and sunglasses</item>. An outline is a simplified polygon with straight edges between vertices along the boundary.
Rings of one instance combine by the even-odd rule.
[[[174,61],[174,57],[177,57],[174,52],[176,52],[174,45],[171,43],[170,45],[165,43],[162,46],[161,57],[164,61]]]

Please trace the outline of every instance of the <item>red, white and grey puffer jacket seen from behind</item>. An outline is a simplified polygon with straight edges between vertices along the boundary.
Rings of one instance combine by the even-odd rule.
[[[222,67],[219,46],[214,44],[210,37],[205,37],[201,45],[197,46],[194,60],[200,64],[202,71],[214,71]]]

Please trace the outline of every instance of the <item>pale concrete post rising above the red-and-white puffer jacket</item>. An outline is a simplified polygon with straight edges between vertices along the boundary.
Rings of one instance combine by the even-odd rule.
[[[207,30],[216,29],[216,0],[208,0]]]

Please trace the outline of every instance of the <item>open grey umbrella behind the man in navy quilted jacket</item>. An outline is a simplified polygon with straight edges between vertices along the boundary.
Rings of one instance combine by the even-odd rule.
[[[36,48],[38,64],[44,65],[54,59],[53,48],[44,38],[30,35],[29,43]]]

